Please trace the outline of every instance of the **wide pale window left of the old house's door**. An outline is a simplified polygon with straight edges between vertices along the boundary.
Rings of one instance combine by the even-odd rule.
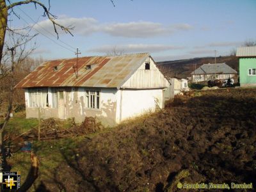
[[[30,108],[46,108],[48,103],[47,88],[33,88],[29,89],[29,107]]]

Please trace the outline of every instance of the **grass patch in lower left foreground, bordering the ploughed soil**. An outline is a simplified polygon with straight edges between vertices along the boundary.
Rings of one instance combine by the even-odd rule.
[[[32,150],[39,160],[39,176],[35,185],[39,185],[41,180],[53,180],[54,170],[60,164],[67,164],[66,158],[74,158],[74,149],[83,139],[84,136],[77,136],[76,138],[61,140],[33,141]],[[12,172],[21,172],[22,184],[26,179],[26,175],[28,175],[31,165],[30,153],[16,152],[12,157],[8,157],[8,163],[12,166]]]

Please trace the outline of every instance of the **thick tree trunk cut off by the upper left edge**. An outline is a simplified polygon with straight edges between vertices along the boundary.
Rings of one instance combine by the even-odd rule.
[[[5,0],[0,0],[0,63],[2,60],[4,37],[7,26],[8,9]]]

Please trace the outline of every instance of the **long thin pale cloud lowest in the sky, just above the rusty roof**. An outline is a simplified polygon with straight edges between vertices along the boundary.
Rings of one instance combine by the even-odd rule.
[[[160,52],[173,49],[184,49],[182,46],[162,45],[162,44],[126,44],[126,45],[103,45],[89,49],[90,52],[108,53],[112,50],[122,52]]]

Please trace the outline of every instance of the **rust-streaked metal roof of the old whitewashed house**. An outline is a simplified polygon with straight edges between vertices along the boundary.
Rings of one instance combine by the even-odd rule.
[[[148,53],[126,54],[122,56],[93,56],[47,61],[26,76],[15,88],[41,86],[87,86],[120,88],[148,58]],[[88,69],[91,65],[91,69]]]

